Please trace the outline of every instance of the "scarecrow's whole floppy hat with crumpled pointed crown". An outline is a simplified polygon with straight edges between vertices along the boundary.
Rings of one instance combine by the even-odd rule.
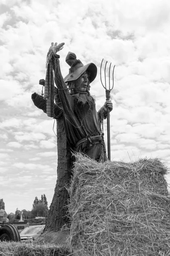
[[[77,80],[85,71],[89,72],[90,83],[96,78],[97,67],[94,63],[89,63],[84,66],[80,60],[77,60],[77,57],[73,52],[68,52],[65,61],[70,66],[69,73],[64,79],[65,82]]]

